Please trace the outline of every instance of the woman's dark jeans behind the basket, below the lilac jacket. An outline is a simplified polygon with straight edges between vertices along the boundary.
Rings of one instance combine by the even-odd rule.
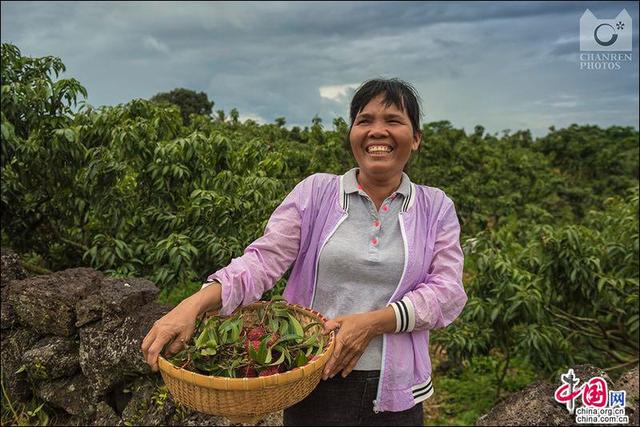
[[[422,402],[401,412],[373,412],[380,371],[340,373],[284,410],[285,426],[421,426]]]

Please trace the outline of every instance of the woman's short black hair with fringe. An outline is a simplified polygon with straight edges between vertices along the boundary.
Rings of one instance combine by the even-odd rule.
[[[356,116],[376,96],[384,94],[384,104],[389,107],[395,105],[407,113],[413,126],[414,135],[420,132],[420,97],[409,83],[400,79],[372,79],[364,82],[356,90],[351,99],[351,126]],[[351,130],[351,127],[349,128]]]

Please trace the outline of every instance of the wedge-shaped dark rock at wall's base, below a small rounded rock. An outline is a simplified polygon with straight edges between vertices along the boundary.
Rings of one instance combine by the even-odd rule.
[[[91,392],[89,380],[82,374],[43,382],[37,388],[38,397],[79,417],[84,424],[96,411],[97,401]]]

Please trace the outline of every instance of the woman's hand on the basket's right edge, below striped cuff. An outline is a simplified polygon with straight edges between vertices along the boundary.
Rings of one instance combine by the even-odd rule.
[[[322,379],[333,378],[340,371],[343,378],[351,373],[369,341],[375,336],[371,323],[369,313],[359,313],[339,316],[324,324],[324,332],[327,334],[332,330],[339,330],[333,354],[324,367]]]

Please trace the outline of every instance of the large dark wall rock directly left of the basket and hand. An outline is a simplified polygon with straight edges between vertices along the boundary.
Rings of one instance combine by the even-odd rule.
[[[80,329],[80,367],[97,395],[128,378],[151,372],[142,356],[142,340],[153,323],[170,311],[155,303],[139,307],[115,329],[98,323]]]

